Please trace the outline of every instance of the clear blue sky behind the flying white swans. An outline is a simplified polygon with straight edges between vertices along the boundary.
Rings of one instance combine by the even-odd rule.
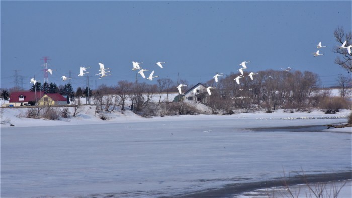
[[[49,56],[49,81],[85,87],[80,66],[90,66],[91,87],[134,81],[132,61],[161,78],[189,84],[206,82],[216,72],[266,69],[311,71],[322,85],[347,73],[334,64],[338,26],[351,30],[352,1],[1,1],[1,88],[14,86],[15,70],[30,88],[43,81],[43,56]],[[321,41],[323,56],[311,53]],[[166,62],[161,69],[156,62]],[[97,80],[99,65],[112,76]],[[149,71],[149,72],[150,72]],[[145,72],[149,75],[148,72]],[[138,75],[140,81],[140,75]],[[150,83],[157,83],[157,78]],[[147,81],[147,80],[145,80]],[[148,82],[149,83],[149,82]]]

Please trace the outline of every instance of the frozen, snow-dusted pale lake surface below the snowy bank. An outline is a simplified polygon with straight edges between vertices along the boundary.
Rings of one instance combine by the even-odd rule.
[[[1,128],[1,197],[173,196],[352,170],[351,133],[317,126],[345,118],[189,118]]]

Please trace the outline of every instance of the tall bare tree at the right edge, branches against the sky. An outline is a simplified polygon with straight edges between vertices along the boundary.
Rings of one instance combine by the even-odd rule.
[[[341,46],[345,41],[345,46],[352,44],[352,32],[345,32],[343,27],[337,27],[335,29],[334,37],[339,46]],[[352,54],[348,54],[347,49],[340,49],[338,46],[333,48],[333,52],[338,54],[335,59],[335,63],[348,73],[352,72]]]

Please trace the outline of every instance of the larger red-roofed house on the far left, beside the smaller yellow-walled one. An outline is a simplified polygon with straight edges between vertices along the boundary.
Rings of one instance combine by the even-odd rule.
[[[9,103],[10,103],[10,105],[13,105],[14,107],[19,107],[19,106],[21,106],[21,104],[24,106],[24,105],[27,105],[28,102],[30,102],[30,101],[33,101],[34,103],[36,101],[39,101],[40,98],[43,97],[43,95],[44,95],[43,91],[12,92],[12,93],[10,93]]]

